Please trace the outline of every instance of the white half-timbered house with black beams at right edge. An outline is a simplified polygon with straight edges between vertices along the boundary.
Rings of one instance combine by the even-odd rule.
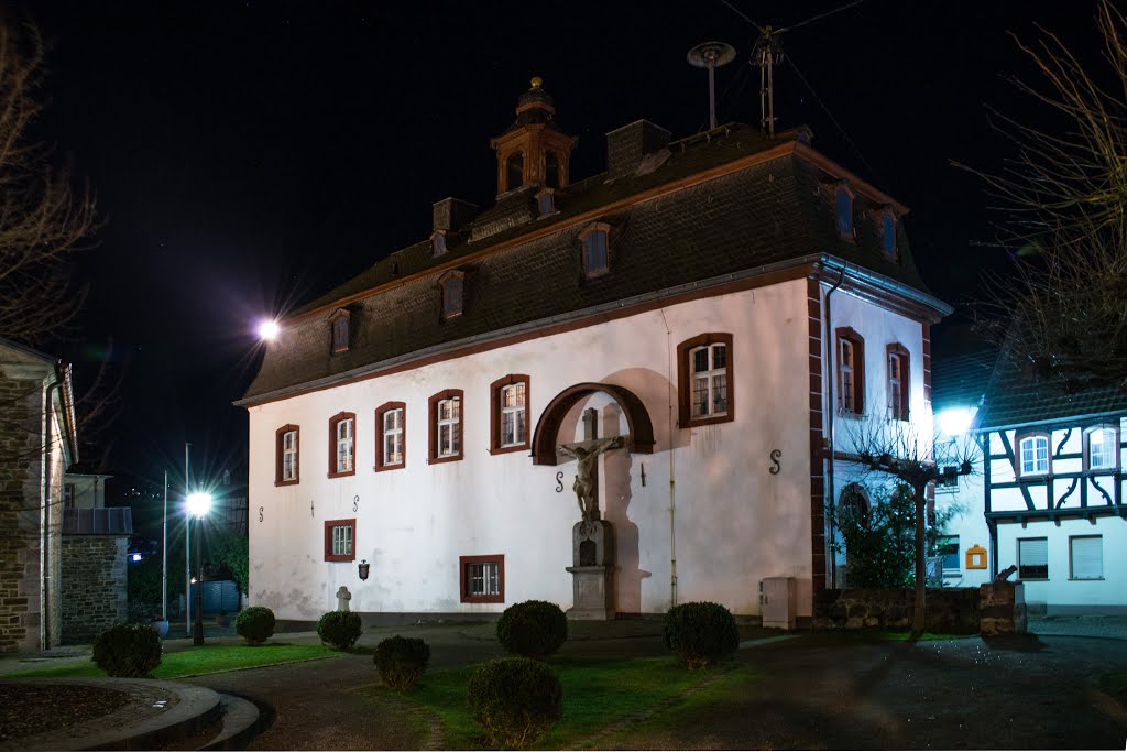
[[[991,570],[1031,609],[1127,612],[1127,390],[1065,393],[1003,357],[978,418]]]

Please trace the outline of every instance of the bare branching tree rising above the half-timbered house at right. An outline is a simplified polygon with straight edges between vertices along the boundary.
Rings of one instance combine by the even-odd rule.
[[[1033,44],[1014,37],[1039,80],[1010,80],[1045,118],[992,110],[1013,156],[997,172],[958,165],[999,200],[1012,260],[987,278],[979,329],[1065,392],[1127,387],[1127,19],[1098,0],[1097,27],[1100,65],[1045,28]]]

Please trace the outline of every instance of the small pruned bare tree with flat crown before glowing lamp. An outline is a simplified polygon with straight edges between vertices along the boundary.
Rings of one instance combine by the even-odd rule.
[[[921,436],[913,424],[902,421],[860,418],[843,426],[845,453],[864,468],[878,472],[911,489],[915,507],[915,609],[912,614],[912,639],[924,632],[926,617],[926,534],[929,485],[958,476],[970,475],[978,457],[977,445],[969,439],[944,452],[943,463],[935,461],[934,441]]]

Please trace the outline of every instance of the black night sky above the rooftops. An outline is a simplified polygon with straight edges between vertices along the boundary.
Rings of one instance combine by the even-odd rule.
[[[532,76],[579,136],[582,178],[633,120],[674,138],[707,127],[707,74],[685,62],[699,42],[738,52],[717,74],[720,121],[757,123],[757,33],[739,12],[778,28],[842,5],[33,3],[53,42],[43,132],[108,220],[82,265],[82,330],[59,346],[81,389],[113,340],[125,375],[107,469],[159,478],[185,441],[194,472],[245,461],[230,402],[257,366],[255,319],[426,237],[440,198],[488,205],[488,140]],[[779,126],[811,125],[817,149],[912,207],[917,263],[958,303],[999,251],[973,245],[992,236],[988,202],[949,161],[1001,165],[985,104],[1040,116],[1002,78],[1028,72],[1006,32],[1033,38],[1039,23],[1091,51],[1093,14],[1090,0],[866,0],[782,37]]]

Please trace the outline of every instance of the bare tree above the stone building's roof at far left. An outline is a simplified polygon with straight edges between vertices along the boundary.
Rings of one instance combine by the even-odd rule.
[[[44,42],[33,26],[0,17],[0,336],[35,342],[57,333],[82,304],[70,266],[97,219],[52,149],[29,139],[43,110]]]

